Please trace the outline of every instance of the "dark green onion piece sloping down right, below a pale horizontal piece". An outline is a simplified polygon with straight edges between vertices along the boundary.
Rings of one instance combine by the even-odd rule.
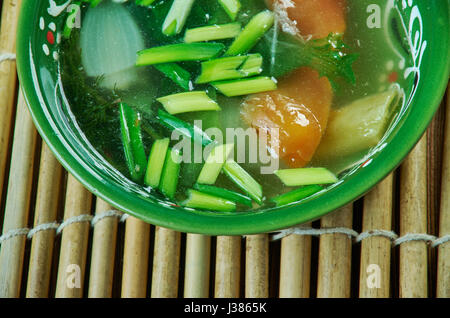
[[[213,142],[211,138],[197,126],[191,125],[178,117],[170,115],[162,109],[158,109],[158,119],[163,126],[170,130],[178,131],[180,134],[190,138],[198,144],[207,146]]]

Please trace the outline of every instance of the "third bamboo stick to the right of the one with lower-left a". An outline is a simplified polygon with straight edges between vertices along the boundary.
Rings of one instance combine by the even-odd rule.
[[[157,227],[153,252],[152,298],[176,298],[180,271],[181,233]]]

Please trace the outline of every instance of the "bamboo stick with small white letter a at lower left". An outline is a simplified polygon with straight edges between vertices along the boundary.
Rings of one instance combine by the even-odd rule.
[[[89,215],[92,195],[72,175],[67,180],[64,221]],[[89,222],[67,225],[62,231],[55,297],[81,298],[86,268]]]

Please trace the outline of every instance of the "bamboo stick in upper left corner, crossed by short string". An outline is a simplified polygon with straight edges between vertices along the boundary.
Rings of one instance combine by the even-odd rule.
[[[16,52],[17,21],[21,3],[21,0],[10,0],[3,3],[0,26],[0,55]],[[15,60],[0,62],[0,193],[3,193],[14,98],[17,92],[16,84]]]

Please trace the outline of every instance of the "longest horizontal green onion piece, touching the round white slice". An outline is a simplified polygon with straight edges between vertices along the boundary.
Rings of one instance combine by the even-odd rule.
[[[218,56],[224,47],[221,43],[179,43],[153,47],[137,53],[136,65],[209,60]]]

